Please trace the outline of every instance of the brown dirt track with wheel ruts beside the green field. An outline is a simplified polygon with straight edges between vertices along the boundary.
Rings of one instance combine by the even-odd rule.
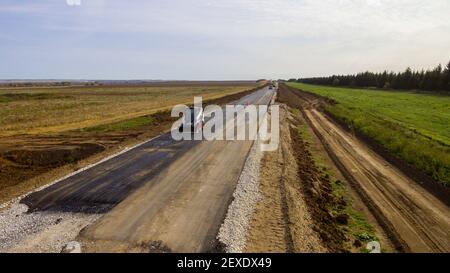
[[[306,102],[305,118],[400,251],[450,251],[450,209],[444,203],[334,124],[317,109],[316,98],[283,91]]]

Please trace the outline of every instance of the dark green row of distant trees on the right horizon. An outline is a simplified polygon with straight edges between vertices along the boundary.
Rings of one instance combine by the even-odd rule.
[[[450,62],[445,68],[438,65],[431,70],[413,71],[407,68],[404,72],[382,73],[363,72],[356,75],[333,75],[330,77],[290,79],[309,84],[376,87],[384,89],[443,91],[450,94]]]

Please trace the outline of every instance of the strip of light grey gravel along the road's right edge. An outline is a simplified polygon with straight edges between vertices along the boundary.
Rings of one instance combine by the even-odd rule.
[[[250,221],[261,196],[259,172],[262,155],[260,142],[255,141],[233,193],[234,200],[228,207],[227,216],[217,235],[217,239],[225,245],[225,251],[228,253],[244,251]]]

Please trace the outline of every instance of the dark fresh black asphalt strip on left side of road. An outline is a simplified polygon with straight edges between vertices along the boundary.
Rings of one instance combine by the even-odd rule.
[[[199,141],[165,134],[21,200],[29,211],[104,212],[167,168]]]

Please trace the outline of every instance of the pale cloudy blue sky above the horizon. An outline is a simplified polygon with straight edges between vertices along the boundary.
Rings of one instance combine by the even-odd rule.
[[[286,79],[448,61],[449,0],[0,0],[0,79]]]

